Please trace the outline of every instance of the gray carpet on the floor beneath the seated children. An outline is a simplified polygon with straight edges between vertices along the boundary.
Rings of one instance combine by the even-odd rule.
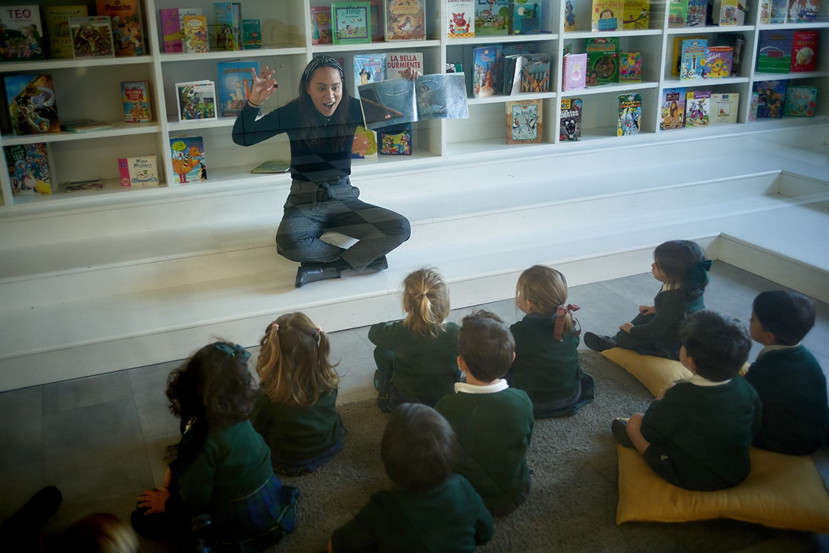
[[[497,519],[495,536],[478,551],[734,551],[775,536],[764,526],[716,520],[616,525],[618,466],[610,420],[643,411],[642,384],[598,353],[581,353],[596,380],[596,399],[564,419],[536,420],[527,454],[530,497]],[[373,400],[340,407],[345,447],[317,473],[284,478],[300,489],[297,529],[271,551],[324,551],[331,532],[349,521],[371,493],[390,487],[380,461],[386,415]]]

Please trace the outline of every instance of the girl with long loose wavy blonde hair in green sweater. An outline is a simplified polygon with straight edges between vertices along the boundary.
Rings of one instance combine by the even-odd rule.
[[[345,434],[331,344],[304,313],[288,313],[265,328],[259,346],[251,423],[270,447],[275,472],[313,473],[342,449]]]

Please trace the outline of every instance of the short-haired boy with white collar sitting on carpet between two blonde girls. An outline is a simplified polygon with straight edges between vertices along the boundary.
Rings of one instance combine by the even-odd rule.
[[[487,311],[467,315],[458,334],[458,367],[466,381],[435,405],[458,435],[455,472],[472,483],[496,517],[514,511],[530,492],[532,402],[502,378],[515,357],[507,323]]]

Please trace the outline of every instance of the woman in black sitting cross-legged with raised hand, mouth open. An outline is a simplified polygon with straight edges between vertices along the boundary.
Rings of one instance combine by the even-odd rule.
[[[276,248],[279,255],[300,262],[297,288],[338,279],[347,269],[362,273],[388,268],[385,254],[409,240],[409,221],[395,211],[360,201],[360,190],[351,186],[351,145],[363,117],[360,100],[348,95],[342,65],[329,56],[315,57],[299,80],[298,98],[260,119],[256,119],[259,108],[277,84],[274,70],[268,67],[259,75],[252,73],[250,95],[233,127],[233,141],[250,146],[288,133],[292,182]],[[404,76],[415,80],[419,75],[410,69]],[[340,248],[320,240],[326,230],[358,241]]]

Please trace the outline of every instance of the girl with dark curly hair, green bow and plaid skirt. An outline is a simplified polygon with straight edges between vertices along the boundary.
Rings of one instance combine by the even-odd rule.
[[[293,531],[298,490],[279,482],[248,420],[256,396],[249,358],[238,344],[214,342],[170,374],[167,398],[187,428],[164,486],[138,498],[139,534],[192,548],[191,518],[207,514],[217,545],[262,551]]]

